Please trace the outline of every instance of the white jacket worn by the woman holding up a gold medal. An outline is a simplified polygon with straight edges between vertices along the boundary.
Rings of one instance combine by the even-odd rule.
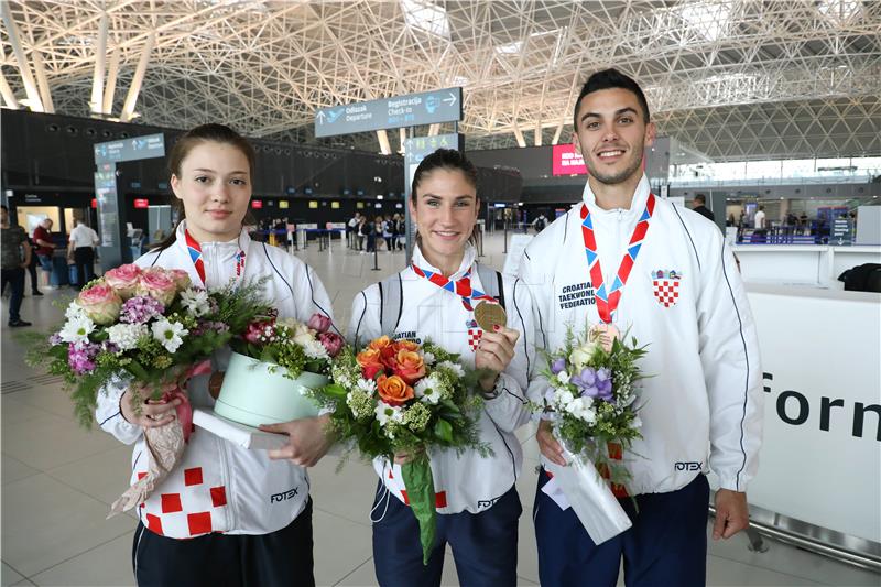
[[[475,257],[474,247],[468,246],[461,265],[450,279],[464,275]],[[438,271],[422,256],[418,247],[414,248],[413,261],[422,269]],[[373,284],[352,301],[349,343],[362,347],[383,334],[416,343],[429,339],[450,352],[460,354],[461,363],[474,368],[475,354],[468,346],[466,325],[471,315],[463,306],[461,298],[416,275],[409,267],[401,271],[401,281],[403,305],[395,331],[380,331],[379,285]],[[486,291],[477,271],[471,272],[471,286]],[[514,358],[499,376],[496,385],[499,395],[486,401],[480,416],[480,439],[490,445],[493,456],[483,458],[476,450],[466,450],[461,456],[453,449],[431,452],[438,513],[486,511],[513,487],[523,465],[523,453],[514,431],[530,420],[524,402],[529,376],[535,363],[532,340],[535,327],[532,324],[532,301],[523,283],[504,275],[503,287],[507,326],[519,330],[521,336]],[[406,488],[401,467],[390,465],[384,458],[376,459],[373,467],[389,491],[406,502],[402,493]]]

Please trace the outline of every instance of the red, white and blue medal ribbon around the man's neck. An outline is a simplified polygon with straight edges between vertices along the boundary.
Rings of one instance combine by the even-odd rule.
[[[642,247],[642,242],[645,240],[645,235],[649,231],[649,222],[652,220],[654,204],[654,194],[650,193],[649,199],[645,202],[645,210],[633,228],[633,236],[630,237],[627,251],[621,259],[621,264],[618,267],[614,282],[608,291],[606,290],[606,284],[602,282],[602,269],[600,268],[599,256],[597,254],[594,218],[587,204],[581,205],[581,237],[585,241],[587,269],[590,273],[590,281],[594,284],[599,317],[606,324],[611,324],[612,314],[618,309],[618,303],[621,301],[621,291],[624,289],[624,285],[627,285],[627,279],[630,276],[630,271],[633,269],[633,264],[637,262],[637,256],[640,253],[640,247]]]

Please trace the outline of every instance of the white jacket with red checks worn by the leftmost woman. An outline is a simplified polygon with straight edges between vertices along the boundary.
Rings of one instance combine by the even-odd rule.
[[[140,267],[183,269],[199,283],[178,227],[177,240],[167,249],[151,251],[135,261]],[[320,313],[333,318],[330,300],[315,272],[298,259],[275,247],[252,241],[242,230],[238,241],[203,243],[206,286],[224,286],[236,278],[236,254],[246,252],[244,279],[269,275],[265,298],[279,309],[280,317],[307,320]],[[274,265],[274,267],[273,267]],[[215,354],[213,370],[224,370],[229,349]],[[208,376],[189,381],[194,407],[210,407]],[[134,443],[131,482],[146,471],[148,455],[140,426],[129,424],[120,414],[122,381],[98,395],[97,421],[101,427],[126,444]],[[120,490],[120,493],[122,491]],[[155,533],[173,539],[188,539],[208,532],[227,534],[267,534],[290,524],[305,508],[309,480],[306,470],[286,460],[270,460],[265,450],[249,450],[196,428],[184,449],[183,460],[156,488],[138,512],[143,524]]]

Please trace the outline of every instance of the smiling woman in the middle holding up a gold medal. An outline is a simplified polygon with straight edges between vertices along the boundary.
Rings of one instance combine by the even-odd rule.
[[[380,476],[371,511],[377,578],[383,586],[439,585],[449,544],[460,584],[515,585],[522,508],[514,483],[523,455],[514,431],[530,420],[532,301],[519,280],[476,262],[477,170],[458,151],[439,149],[423,160],[410,211],[418,229],[411,264],[355,297],[349,339],[356,346],[381,335],[428,339],[460,354],[464,365],[491,371],[478,391],[486,399],[480,441],[492,454],[432,452],[438,517],[427,565],[401,475],[409,455],[374,461]]]

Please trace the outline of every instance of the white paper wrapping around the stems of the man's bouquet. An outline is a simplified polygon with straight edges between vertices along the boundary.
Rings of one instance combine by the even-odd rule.
[[[542,465],[553,476],[542,491],[561,509],[572,507],[595,544],[602,544],[633,525],[590,460],[572,454],[565,447],[563,458],[568,463],[565,467],[542,455]]]

